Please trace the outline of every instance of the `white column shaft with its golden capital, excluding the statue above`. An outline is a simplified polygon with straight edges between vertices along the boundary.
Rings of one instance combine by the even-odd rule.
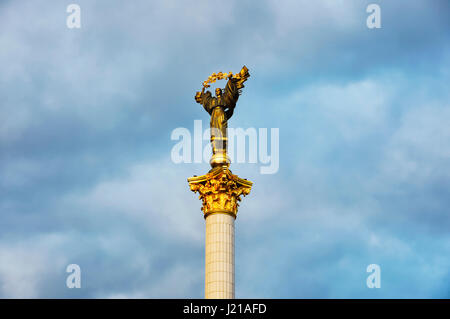
[[[233,175],[228,165],[188,179],[203,201],[206,223],[205,298],[234,298],[234,221],[238,201],[250,193],[252,182]]]

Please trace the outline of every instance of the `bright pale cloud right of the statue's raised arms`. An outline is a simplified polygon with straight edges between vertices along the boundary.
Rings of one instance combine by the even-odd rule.
[[[294,91],[278,105],[289,115],[292,109],[299,109],[295,114],[303,122],[307,120],[305,113],[313,113],[321,128],[336,130],[346,141],[358,141],[385,128],[392,91],[389,84],[377,78],[345,84],[317,83]]]

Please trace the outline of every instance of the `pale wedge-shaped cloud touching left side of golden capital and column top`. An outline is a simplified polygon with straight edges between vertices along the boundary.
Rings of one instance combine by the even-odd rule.
[[[81,194],[68,194],[62,205],[114,213],[166,238],[198,242],[203,238],[202,212],[188,187],[192,173],[188,166],[169,160],[133,164],[121,177],[101,181]]]

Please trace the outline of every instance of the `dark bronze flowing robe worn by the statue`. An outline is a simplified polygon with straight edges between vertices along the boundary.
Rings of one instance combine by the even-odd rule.
[[[236,102],[239,98],[238,83],[229,79],[225,92],[220,97],[211,96],[207,91],[201,95],[201,104],[211,115],[211,144],[213,154],[226,152],[227,149],[227,121],[233,115]]]

